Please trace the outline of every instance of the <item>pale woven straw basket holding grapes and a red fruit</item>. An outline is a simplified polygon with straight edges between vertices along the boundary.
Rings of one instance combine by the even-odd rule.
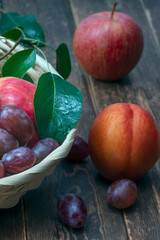
[[[4,55],[12,46],[14,42],[6,40],[0,37],[0,55]],[[21,51],[24,48],[22,46],[17,46],[14,51]],[[4,60],[5,61],[5,60]],[[1,63],[2,67],[3,62]],[[49,64],[50,71],[54,74],[59,75],[56,70]],[[36,64],[33,68],[29,69],[27,72],[36,84],[41,74],[48,72],[48,66],[46,61],[43,60],[39,55],[36,57]],[[72,146],[74,137],[76,134],[76,128],[72,129],[67,135],[66,139],[57,149],[51,152],[45,159],[43,159],[39,164],[33,166],[32,168],[0,179],[0,208],[11,208],[15,206],[19,199],[28,191],[38,188],[45,176],[53,173],[56,165],[60,159],[67,156],[70,148]]]

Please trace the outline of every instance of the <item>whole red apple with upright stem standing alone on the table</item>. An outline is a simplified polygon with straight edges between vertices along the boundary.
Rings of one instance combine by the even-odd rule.
[[[144,46],[137,22],[124,13],[98,12],[77,27],[73,48],[80,66],[92,77],[113,81],[138,63]]]

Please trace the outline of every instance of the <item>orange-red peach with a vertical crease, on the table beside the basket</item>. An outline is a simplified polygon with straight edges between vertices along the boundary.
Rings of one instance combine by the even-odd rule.
[[[88,144],[96,169],[111,181],[140,178],[160,156],[159,129],[151,114],[136,104],[115,103],[102,110]]]

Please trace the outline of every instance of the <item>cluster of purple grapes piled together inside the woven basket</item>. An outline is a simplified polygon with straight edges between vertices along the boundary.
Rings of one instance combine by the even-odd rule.
[[[31,168],[59,146],[45,138],[30,149],[27,143],[33,134],[33,122],[24,110],[16,105],[0,109],[0,178]]]

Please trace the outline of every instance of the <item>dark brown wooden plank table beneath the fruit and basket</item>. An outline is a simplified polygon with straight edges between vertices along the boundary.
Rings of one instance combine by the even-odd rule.
[[[123,80],[107,83],[92,79],[79,67],[72,40],[78,23],[89,14],[110,10],[107,0],[1,0],[6,11],[34,14],[53,47],[67,43],[72,61],[68,79],[84,99],[78,134],[88,140],[96,115],[115,102],[136,103],[151,112],[160,126],[160,1],[118,1],[117,11],[131,15],[143,29],[145,47],[136,68]],[[45,53],[55,65],[55,55]],[[53,174],[41,186],[28,192],[11,209],[0,210],[1,240],[158,240],[160,239],[160,163],[137,182],[139,196],[129,209],[121,211],[108,205],[109,182],[95,170],[90,158],[71,164],[62,159]],[[88,209],[84,228],[73,230],[59,220],[57,200],[65,193],[80,195]]]

